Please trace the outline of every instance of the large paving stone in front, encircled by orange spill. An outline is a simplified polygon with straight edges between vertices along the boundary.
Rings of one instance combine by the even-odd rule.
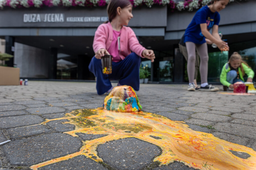
[[[106,142],[97,147],[99,157],[114,169],[142,169],[161,153],[160,148],[136,138]]]

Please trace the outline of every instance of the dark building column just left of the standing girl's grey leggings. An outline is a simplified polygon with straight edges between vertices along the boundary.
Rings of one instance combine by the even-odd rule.
[[[179,48],[175,48],[174,51],[174,82],[184,82],[184,57]]]

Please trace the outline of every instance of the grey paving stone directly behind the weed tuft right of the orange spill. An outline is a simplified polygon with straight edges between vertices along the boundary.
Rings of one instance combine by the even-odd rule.
[[[192,114],[191,117],[196,119],[213,121],[213,122],[227,122],[232,119],[231,117],[228,117],[228,116],[222,116],[222,115],[212,114],[212,113],[196,113],[196,114]]]

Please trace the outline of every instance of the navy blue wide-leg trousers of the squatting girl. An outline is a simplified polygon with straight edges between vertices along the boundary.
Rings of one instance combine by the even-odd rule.
[[[110,79],[119,80],[121,85],[132,86],[134,90],[138,91],[140,88],[140,64],[141,58],[137,54],[131,53],[122,61],[112,61],[112,73],[103,74],[101,60],[92,57],[89,70],[97,77],[96,89],[98,95],[104,94],[112,87]]]

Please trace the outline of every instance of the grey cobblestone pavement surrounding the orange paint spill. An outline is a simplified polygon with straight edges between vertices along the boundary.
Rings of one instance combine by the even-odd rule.
[[[256,151],[256,96],[188,92],[186,88],[185,84],[141,84],[136,94],[142,111],[184,121],[193,130]],[[97,95],[95,83],[89,82],[29,81],[28,86],[0,86],[0,142],[11,140],[0,146],[0,169],[30,169],[36,163],[77,152],[83,140],[104,136],[65,134],[75,128],[62,124],[67,120],[38,124],[74,109],[101,107],[105,97]],[[161,149],[136,138],[106,142],[97,152],[103,163],[80,155],[39,169],[193,169],[179,162],[154,165],[152,160]]]

